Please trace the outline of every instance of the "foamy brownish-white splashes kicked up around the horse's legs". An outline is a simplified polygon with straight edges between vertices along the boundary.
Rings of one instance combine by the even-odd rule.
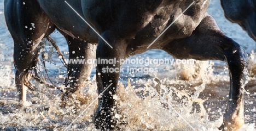
[[[222,123],[222,118],[210,121],[207,114],[210,110],[209,108],[206,110],[204,105],[207,99],[200,98],[200,94],[208,86],[207,80],[208,78],[204,77],[201,84],[190,87],[185,85],[186,81],[170,77],[148,79],[142,86],[132,85],[130,80],[127,85],[119,83],[118,93],[114,96],[117,102],[117,114],[114,116],[117,118],[117,128],[120,130],[191,130],[181,118],[182,116],[195,130],[218,130],[217,127]],[[173,83],[176,83],[176,86]],[[59,106],[60,91],[45,88],[40,84],[38,86],[40,91],[36,95],[30,93],[28,98],[28,101],[33,103],[30,107],[15,108],[17,101],[7,100],[2,103],[2,106],[5,106],[2,109],[11,111],[11,113],[0,114],[2,128],[64,130],[97,97],[94,79],[75,92],[68,101],[67,107],[62,109]],[[7,95],[7,97],[10,96]],[[198,107],[195,107],[195,104]],[[177,115],[171,106],[181,116]],[[95,130],[92,121],[96,108],[97,102],[93,103],[69,130]],[[222,110],[219,110],[219,113],[222,113]],[[246,124],[243,129],[254,129],[253,124]]]

